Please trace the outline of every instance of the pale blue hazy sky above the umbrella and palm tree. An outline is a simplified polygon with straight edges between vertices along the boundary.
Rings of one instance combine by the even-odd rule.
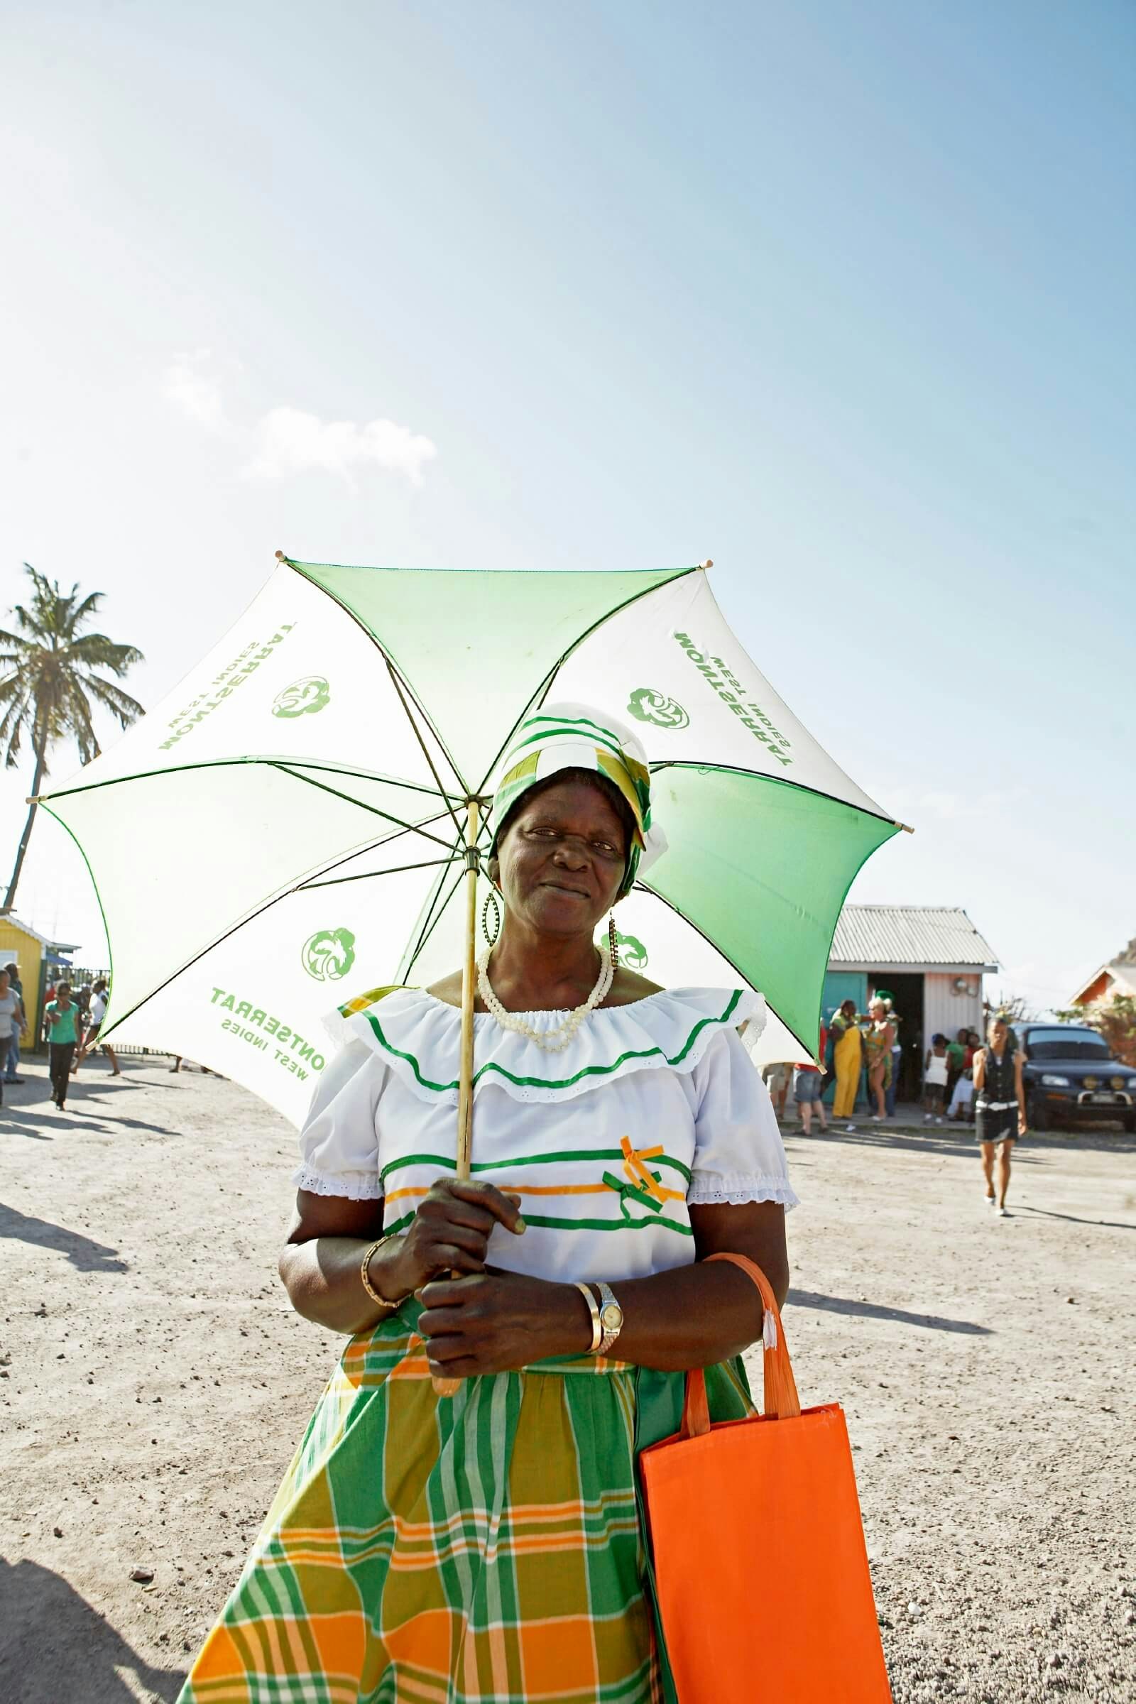
[[[1039,1009],[1136,934],[1126,0],[0,0],[0,612],[104,591],[153,704],[278,547],[712,557],[916,828],[853,900],[966,907]],[[104,959],[43,815],[17,912]]]

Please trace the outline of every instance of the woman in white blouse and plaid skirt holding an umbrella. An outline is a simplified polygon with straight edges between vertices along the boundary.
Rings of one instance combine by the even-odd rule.
[[[736,1034],[763,1002],[596,947],[661,840],[613,717],[530,717],[492,821],[473,1176],[462,978],[351,1002],[281,1256],[295,1307],[351,1341],[184,1704],[663,1695],[635,1455],[678,1430],[686,1368],[715,1418],[749,1411],[761,1304],[707,1256],[789,1285],[795,1196]]]

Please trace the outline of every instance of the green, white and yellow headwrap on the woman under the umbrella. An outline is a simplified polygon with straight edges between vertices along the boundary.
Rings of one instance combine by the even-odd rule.
[[[627,801],[635,835],[617,895],[622,900],[635,878],[666,852],[666,835],[651,820],[651,770],[639,736],[591,704],[545,704],[521,722],[506,751],[494,792],[492,850],[497,850],[497,832],[516,801],[562,769],[594,770],[618,787]]]

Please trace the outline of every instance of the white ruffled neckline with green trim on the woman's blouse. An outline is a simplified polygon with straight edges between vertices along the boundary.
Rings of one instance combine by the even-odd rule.
[[[564,1012],[526,1012],[555,1029]],[[748,988],[663,988],[591,1012],[562,1053],[545,1053],[492,1012],[475,1012],[473,1096],[496,1084],[514,1101],[565,1101],[637,1070],[691,1072],[726,1029],[765,1026],[765,997]],[[419,1099],[458,1102],[462,1012],[422,988],[395,988],[361,1010],[332,1014],[334,1039],[363,1041]],[[749,1034],[749,1033],[748,1033]]]

